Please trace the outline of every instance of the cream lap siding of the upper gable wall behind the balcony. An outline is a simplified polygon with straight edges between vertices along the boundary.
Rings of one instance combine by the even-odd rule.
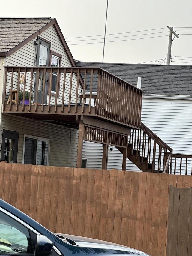
[[[42,39],[45,39],[49,42],[51,42],[51,48],[50,50],[60,54],[61,57],[61,66],[63,67],[71,67],[70,61],[67,57],[67,54],[61,44],[60,39],[58,38],[58,35],[55,31],[54,26],[50,26],[48,29],[46,29],[44,32],[42,32],[39,37]],[[9,57],[6,58],[6,66],[35,66],[36,63],[36,51],[37,46],[35,46],[34,41],[37,40],[37,37],[32,39],[29,43],[21,47],[19,50],[11,54]],[[17,74],[14,74],[14,88],[17,88]],[[30,74],[27,73],[27,82],[26,82],[26,90],[29,90],[30,88]],[[63,84],[64,74],[61,74],[60,84]],[[10,83],[10,75],[7,76],[7,85]],[[77,85],[77,77],[75,74],[73,74],[73,83],[72,83],[72,94],[71,94],[71,102],[75,102],[76,98],[76,85]],[[68,103],[69,98],[69,86],[70,86],[70,74],[68,73],[66,75],[66,83],[65,83],[65,101],[64,103]],[[10,89],[9,86],[7,86],[7,92]],[[60,86],[60,97],[58,98],[58,104],[62,103],[62,93],[63,88]],[[79,84],[79,94],[82,94],[82,87]],[[8,97],[8,93],[7,93]],[[47,102],[49,101],[49,95],[47,97]],[[79,100],[80,101],[80,100]],[[51,104],[55,104],[55,96],[51,96]]]

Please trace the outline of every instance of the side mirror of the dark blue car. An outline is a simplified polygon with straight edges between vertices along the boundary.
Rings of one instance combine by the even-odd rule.
[[[49,255],[52,252],[53,243],[49,238],[43,235],[37,235],[37,242],[35,245],[35,256]]]

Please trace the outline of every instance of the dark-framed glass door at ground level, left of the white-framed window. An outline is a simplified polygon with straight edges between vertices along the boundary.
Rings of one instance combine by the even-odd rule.
[[[3,130],[1,161],[7,161],[7,163],[17,162],[18,140],[18,132]]]

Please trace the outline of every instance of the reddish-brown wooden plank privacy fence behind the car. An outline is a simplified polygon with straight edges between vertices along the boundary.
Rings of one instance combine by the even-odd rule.
[[[0,163],[0,198],[51,231],[166,255],[169,184],[192,177]]]

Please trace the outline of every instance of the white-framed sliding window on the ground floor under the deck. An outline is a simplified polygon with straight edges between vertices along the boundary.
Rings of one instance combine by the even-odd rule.
[[[49,165],[50,140],[24,135],[23,164]]]

